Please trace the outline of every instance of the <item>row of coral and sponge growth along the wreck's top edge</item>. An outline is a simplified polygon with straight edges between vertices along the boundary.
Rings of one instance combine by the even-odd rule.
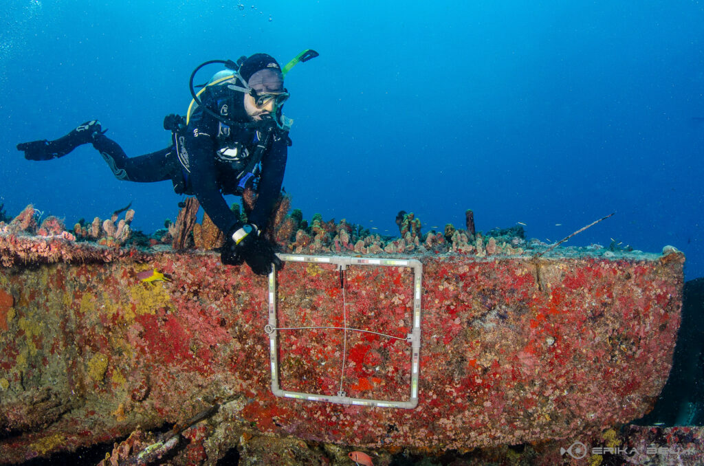
[[[239,205],[233,205],[233,212],[241,221],[246,222],[246,214],[251,212],[256,194],[249,192],[243,196],[244,211],[239,212]],[[154,246],[156,244],[171,244],[175,250],[198,248],[212,250],[222,246],[223,232],[220,232],[208,215],[203,215],[201,223],[196,222],[200,204],[195,198],[189,198],[178,214],[174,223],[168,224],[168,232],[160,230],[151,237],[137,232],[134,237],[130,223],[134,218],[134,210],[126,210],[125,218],[119,219],[118,212],[110,219],[101,220],[96,217],[91,223],[81,220],[73,227],[73,234],[65,231],[63,222],[55,217],[45,218],[37,225],[37,212],[32,206],[27,206],[22,213],[11,222],[0,222],[0,233],[39,235],[47,239],[62,238],[74,241],[94,241],[108,247],[120,247],[130,244]],[[323,220],[316,213],[310,220],[303,219],[301,210],[291,211],[291,198],[287,194],[279,196],[272,209],[270,222],[263,232],[265,237],[276,244],[280,252],[287,253],[355,253],[398,255],[405,253],[470,254],[477,257],[486,256],[520,256],[528,249],[545,246],[537,240],[527,243],[522,227],[510,229],[494,229],[486,233],[474,231],[474,214],[472,210],[465,213],[466,229],[455,228],[448,224],[440,232],[434,229],[421,231],[421,221],[414,213],[401,210],[396,217],[400,237],[382,236],[370,232],[360,225],[348,223],[345,219]]]

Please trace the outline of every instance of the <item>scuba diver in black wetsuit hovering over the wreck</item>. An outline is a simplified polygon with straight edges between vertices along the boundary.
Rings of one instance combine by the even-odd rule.
[[[17,145],[27,160],[63,157],[77,146],[93,144],[118,180],[158,182],[171,180],[177,194],[194,195],[213,223],[225,233],[220,260],[227,265],[246,263],[257,275],[266,275],[281,261],[275,247],[261,232],[267,227],[281,191],[291,145],[291,122],[282,113],[289,98],[284,76],[296,65],[318,56],[306,50],[283,70],[265,53],[241,57],[237,62],[213,60],[191,74],[193,101],[186,117],[168,115],[164,128],[172,130],[172,145],[161,151],[127,157],[105,136],[97,120],[85,122],[65,136]],[[222,63],[196,94],[193,80],[205,65]],[[223,194],[241,196],[255,189],[258,196],[248,222],[227,206]]]

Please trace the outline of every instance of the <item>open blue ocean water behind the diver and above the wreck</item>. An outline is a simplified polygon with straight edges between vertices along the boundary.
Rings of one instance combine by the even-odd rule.
[[[132,202],[174,219],[170,182],[115,180],[91,146],[37,163],[20,141],[98,118],[128,155],[168,146],[213,58],[319,58],[287,77],[284,187],[305,218],[397,232],[526,224],[553,242],[672,244],[704,276],[704,3],[699,1],[9,0],[0,11],[0,203],[73,225]],[[212,73],[217,71],[213,68]],[[210,71],[201,75],[208,79]],[[234,201],[234,198],[232,199]]]

